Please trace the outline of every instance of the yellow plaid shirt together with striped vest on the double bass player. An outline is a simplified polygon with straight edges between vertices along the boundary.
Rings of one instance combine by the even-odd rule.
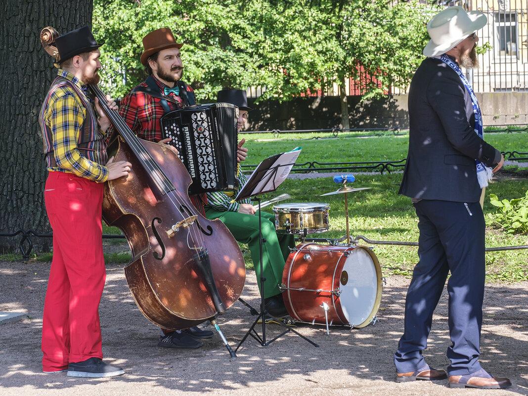
[[[47,168],[105,182],[108,169],[102,164],[107,162],[106,134],[99,128],[96,112],[83,93],[82,81],[62,69],[58,76],[39,117]],[[85,121],[90,125],[84,125]]]

